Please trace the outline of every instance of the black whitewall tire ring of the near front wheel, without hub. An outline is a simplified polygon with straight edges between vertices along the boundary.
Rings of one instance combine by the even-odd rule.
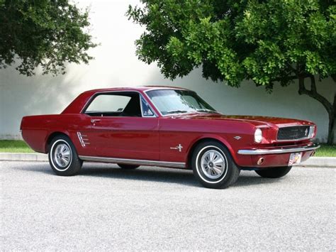
[[[216,179],[211,179],[204,175],[201,168],[201,157],[208,150],[217,150],[220,152],[225,158],[226,168],[223,175]],[[220,143],[214,141],[208,141],[205,143],[201,143],[194,150],[193,158],[191,160],[191,165],[194,171],[194,175],[198,178],[202,185],[210,188],[222,188],[228,185],[233,176],[233,159],[229,153],[229,151]]]

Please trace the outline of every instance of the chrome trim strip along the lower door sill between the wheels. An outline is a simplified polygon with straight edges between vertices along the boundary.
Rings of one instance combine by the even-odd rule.
[[[140,159],[127,159],[127,158],[103,158],[103,157],[91,157],[86,155],[79,155],[80,159],[92,162],[103,163],[123,163],[127,165],[155,165],[174,168],[186,168],[186,163],[178,162],[165,162],[165,161],[152,161],[152,160],[140,160]]]

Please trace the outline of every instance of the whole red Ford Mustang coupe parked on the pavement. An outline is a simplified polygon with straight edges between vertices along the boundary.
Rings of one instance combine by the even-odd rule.
[[[23,117],[21,131],[57,175],[77,174],[83,161],[155,165],[192,169],[211,188],[232,185],[240,170],[282,177],[320,147],[310,121],[227,116],[177,87],[87,91],[61,114]]]

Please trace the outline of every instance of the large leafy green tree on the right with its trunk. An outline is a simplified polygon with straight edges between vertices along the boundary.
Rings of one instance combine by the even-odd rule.
[[[203,77],[239,87],[253,80],[268,92],[298,80],[298,94],[323,104],[333,142],[333,102],[316,80],[336,83],[336,6],[332,0],[146,0],[127,15],[145,26],[135,41],[140,60],[174,79],[202,67]],[[322,84],[320,84],[322,85]],[[309,87],[308,87],[309,86]]]

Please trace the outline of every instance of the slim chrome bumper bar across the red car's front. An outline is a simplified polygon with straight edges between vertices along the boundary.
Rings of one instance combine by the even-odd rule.
[[[320,148],[318,143],[310,144],[309,146],[300,146],[296,148],[276,148],[276,149],[254,149],[254,150],[238,150],[240,155],[267,155],[267,154],[283,154],[283,153],[296,153],[308,150],[316,150]]]

